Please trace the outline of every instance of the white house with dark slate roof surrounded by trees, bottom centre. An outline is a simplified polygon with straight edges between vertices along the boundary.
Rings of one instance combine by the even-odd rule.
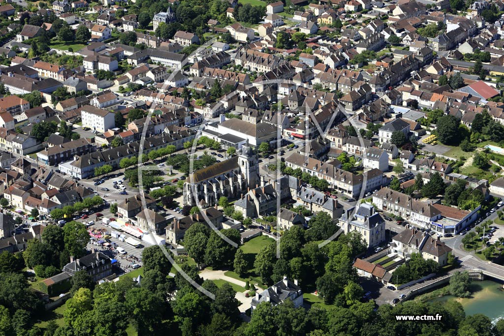
[[[272,306],[277,306],[290,300],[294,303],[294,307],[298,308],[303,305],[303,292],[297,285],[297,280],[291,282],[286,277],[277,282],[273,286],[265,289],[263,292],[256,292],[256,296],[250,303],[250,310],[254,313],[257,305],[261,302],[269,302]]]

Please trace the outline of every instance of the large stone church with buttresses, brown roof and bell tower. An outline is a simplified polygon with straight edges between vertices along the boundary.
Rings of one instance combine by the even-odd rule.
[[[237,156],[190,174],[183,187],[184,205],[215,206],[221,196],[238,198],[259,183],[259,162],[248,142]]]

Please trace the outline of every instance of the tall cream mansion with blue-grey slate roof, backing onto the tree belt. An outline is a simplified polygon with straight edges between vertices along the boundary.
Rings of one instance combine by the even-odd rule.
[[[360,233],[367,247],[374,247],[385,241],[385,220],[367,203],[345,210],[339,226],[346,234],[353,231]]]

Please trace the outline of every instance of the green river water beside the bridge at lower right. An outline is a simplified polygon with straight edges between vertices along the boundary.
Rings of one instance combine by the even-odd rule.
[[[429,301],[446,302],[448,300],[457,300],[464,307],[466,315],[481,313],[495,322],[499,318],[504,318],[504,291],[501,289],[502,284],[490,280],[475,281],[471,284],[471,298],[462,299],[447,295]]]

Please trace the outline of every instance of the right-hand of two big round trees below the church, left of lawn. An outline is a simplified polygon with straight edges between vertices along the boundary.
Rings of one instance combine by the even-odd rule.
[[[240,233],[236,229],[223,229],[220,232],[236,244],[240,244]],[[205,249],[205,263],[213,267],[232,266],[236,248],[222,239],[215,231],[210,233]]]

